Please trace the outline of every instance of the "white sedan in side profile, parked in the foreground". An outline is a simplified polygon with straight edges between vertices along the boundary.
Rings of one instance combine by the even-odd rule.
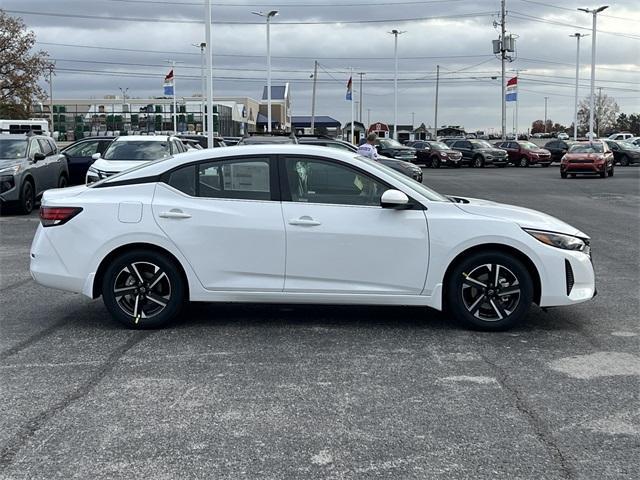
[[[185,301],[422,305],[509,328],[595,295],[589,237],[520,207],[450,198],[351,152],[200,150],[45,192],[40,284],[102,295],[151,328]]]

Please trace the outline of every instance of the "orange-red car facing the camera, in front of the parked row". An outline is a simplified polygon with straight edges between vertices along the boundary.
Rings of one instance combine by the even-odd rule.
[[[577,174],[613,176],[613,152],[603,142],[579,142],[571,145],[560,162],[560,176],[575,177]]]

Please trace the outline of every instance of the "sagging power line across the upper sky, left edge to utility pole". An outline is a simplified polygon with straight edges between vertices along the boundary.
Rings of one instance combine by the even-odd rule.
[[[136,23],[185,23],[202,25],[201,20],[188,19],[162,19],[149,17],[113,17],[100,15],[81,15],[72,13],[55,13],[55,12],[30,12],[26,10],[5,10],[7,13],[15,15],[39,15],[45,17],[63,17],[63,18],[82,18],[87,20],[100,21],[117,21],[117,22],[136,22]],[[465,18],[465,17],[487,17],[493,15],[493,12],[476,12],[476,13],[459,13],[456,15],[439,15],[433,17],[414,17],[414,18],[396,18],[396,19],[378,19],[378,20],[317,20],[317,21],[290,21],[290,22],[274,22],[273,25],[345,25],[345,24],[368,24],[368,23],[407,23],[407,22],[423,22],[429,20],[442,20],[448,18]],[[213,25],[263,25],[263,22],[246,22],[237,20],[217,20],[211,22]]]

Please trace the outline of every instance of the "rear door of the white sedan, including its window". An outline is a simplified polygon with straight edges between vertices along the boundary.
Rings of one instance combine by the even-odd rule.
[[[271,165],[265,155],[204,161],[158,184],[156,222],[206,289],[282,291],[285,232]]]

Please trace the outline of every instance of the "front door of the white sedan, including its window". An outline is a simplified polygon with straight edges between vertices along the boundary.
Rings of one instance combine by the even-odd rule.
[[[337,160],[280,158],[285,291],[422,292],[429,260],[425,211],[382,208],[389,185]]]

